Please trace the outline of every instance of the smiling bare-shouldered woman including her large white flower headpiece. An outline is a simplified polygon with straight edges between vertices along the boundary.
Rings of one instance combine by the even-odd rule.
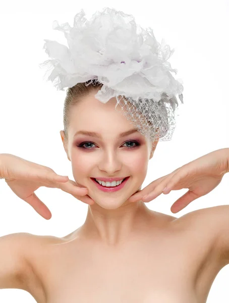
[[[112,10],[90,23],[82,15],[75,17],[74,29],[67,23],[56,26],[70,49],[55,41],[45,44],[54,66],[50,79],[59,77],[59,88],[69,86],[61,139],[75,181],[10,154],[0,155],[0,175],[45,219],[51,213],[34,193],[40,186],[58,187],[88,204],[87,217],[62,238],[1,237],[0,288],[24,289],[38,303],[204,303],[217,273],[228,264],[229,206],[176,218],[149,210],[145,202],[165,187],[164,193],[188,188],[171,208],[176,213],[207,194],[228,172],[228,148],[141,190],[158,142],[154,135],[164,137],[168,124],[173,125],[164,105],[174,108],[172,92],[181,96],[182,86],[165,62],[169,48],[159,49],[151,30],[139,36],[131,16]],[[101,90],[84,85],[96,77],[103,82]],[[137,100],[129,104],[131,121],[115,109],[119,92]],[[146,113],[153,118],[144,119]],[[134,120],[143,121],[141,131],[133,127]],[[153,136],[145,136],[144,127]]]

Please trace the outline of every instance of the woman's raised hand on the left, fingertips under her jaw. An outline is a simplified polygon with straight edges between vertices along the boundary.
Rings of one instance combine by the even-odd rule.
[[[86,204],[94,203],[87,195],[88,189],[76,186],[77,183],[69,180],[68,176],[58,175],[47,166],[11,154],[0,154],[0,157],[0,177],[5,179],[19,198],[30,204],[46,220],[51,218],[51,212],[34,193],[41,186],[60,188]]]

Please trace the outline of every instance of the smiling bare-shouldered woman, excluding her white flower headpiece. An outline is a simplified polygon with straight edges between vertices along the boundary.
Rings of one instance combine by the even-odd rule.
[[[165,187],[164,193],[189,188],[171,208],[183,209],[220,183],[229,171],[229,148],[141,190],[155,144],[115,110],[115,98],[100,103],[96,89],[88,86],[84,96],[65,105],[68,127],[61,138],[75,181],[0,155],[1,177],[45,219],[51,214],[34,193],[40,186],[61,188],[88,204],[85,223],[65,237],[1,237],[0,288],[24,289],[39,303],[206,302],[217,273],[229,263],[229,206],[176,218],[149,210],[144,201]],[[104,178],[124,180],[101,183]]]

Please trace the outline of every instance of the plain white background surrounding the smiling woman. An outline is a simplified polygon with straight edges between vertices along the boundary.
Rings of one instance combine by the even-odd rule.
[[[170,1],[9,1],[1,4],[0,153],[10,153],[52,168],[73,180],[71,163],[62,144],[65,91],[43,80],[39,63],[48,59],[43,39],[66,44],[64,34],[52,29],[52,21],[68,22],[84,9],[87,19],[103,7],[132,14],[142,27],[151,27],[157,41],[175,48],[169,59],[183,80],[184,105],[171,141],[159,142],[142,188],[153,180],[213,150],[229,147],[228,29],[226,0]],[[180,100],[179,100],[180,103]],[[160,195],[149,209],[181,217],[191,211],[229,204],[229,174],[209,194],[193,201],[177,214],[170,207],[187,189]],[[36,191],[52,213],[39,216],[1,180],[0,235],[29,232],[62,237],[84,223],[87,205],[72,195],[41,187]],[[229,220],[229,213],[228,213]],[[169,258],[169,256],[168,256]],[[228,302],[229,267],[213,282],[207,303]],[[220,298],[219,298],[220,297]],[[26,291],[1,289],[0,301],[35,302]]]

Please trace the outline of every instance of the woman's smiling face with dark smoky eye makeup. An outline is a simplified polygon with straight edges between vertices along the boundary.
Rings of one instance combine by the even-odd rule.
[[[72,162],[75,181],[88,188],[88,195],[100,207],[116,209],[141,189],[154,150],[151,142],[138,131],[120,137],[134,126],[115,110],[115,97],[103,104],[94,97],[95,93],[92,91],[71,109],[69,141],[65,150]],[[80,131],[94,132],[97,137]],[[121,189],[106,192],[91,179],[101,177],[129,179]]]

